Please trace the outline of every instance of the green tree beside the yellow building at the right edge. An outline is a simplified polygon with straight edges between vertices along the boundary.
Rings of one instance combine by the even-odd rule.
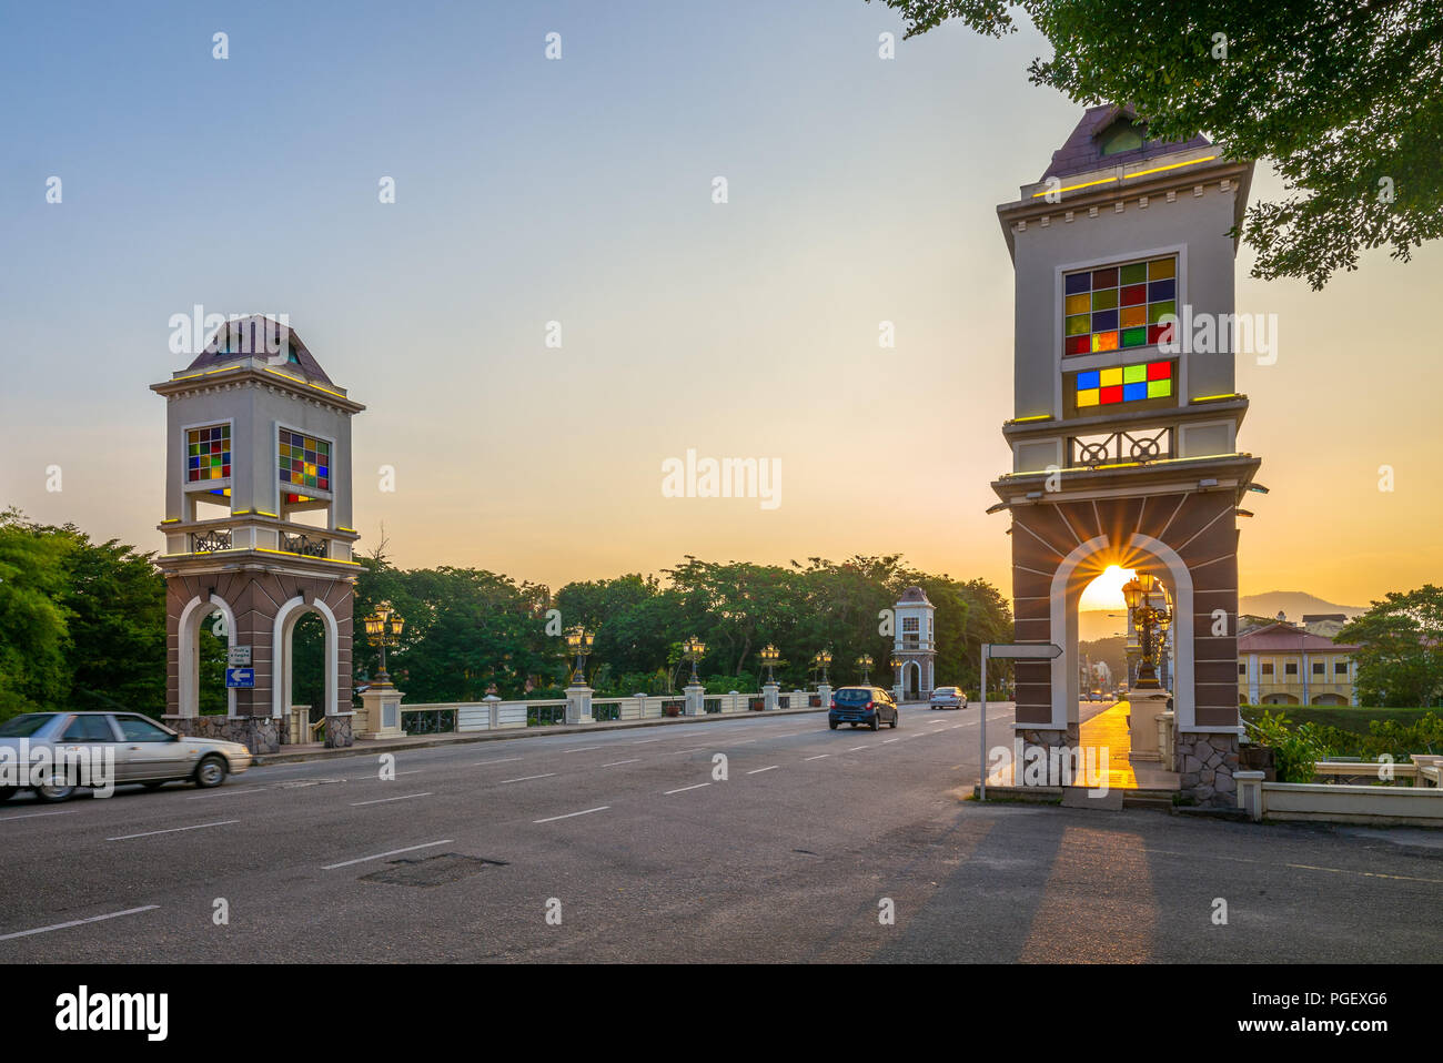
[[[1443,694],[1443,588],[1390,591],[1338,632],[1356,643],[1358,697],[1365,705],[1431,705]]]

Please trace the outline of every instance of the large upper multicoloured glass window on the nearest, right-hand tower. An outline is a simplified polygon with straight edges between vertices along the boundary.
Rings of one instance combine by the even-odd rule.
[[[1081,270],[1062,278],[1062,352],[1091,355],[1163,342],[1177,313],[1177,257]]]

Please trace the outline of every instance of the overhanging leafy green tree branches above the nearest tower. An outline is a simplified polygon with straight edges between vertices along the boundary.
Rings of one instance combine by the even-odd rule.
[[[870,0],[869,0],[870,1]],[[1443,4],[1436,0],[883,0],[906,36],[1025,16],[1052,45],[1029,75],[1082,105],[1133,104],[1149,137],[1205,133],[1273,159],[1286,195],[1248,209],[1255,277],[1322,288],[1359,251],[1443,235]]]

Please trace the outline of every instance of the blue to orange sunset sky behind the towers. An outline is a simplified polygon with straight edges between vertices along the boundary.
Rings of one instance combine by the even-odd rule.
[[[355,526],[400,565],[556,588],[900,552],[1010,593],[984,513],[1010,467],[996,205],[1082,111],[1029,84],[1038,35],[902,42],[861,0],[144,10],[6,14],[0,508],[162,548],[147,385],[190,361],[169,322],[201,304],[289,314],[368,405]],[[1260,162],[1254,202],[1280,193]],[[1238,361],[1271,490],[1241,593],[1437,581],[1443,251],[1320,293],[1237,265],[1238,312],[1278,322],[1276,363]],[[778,505],[667,498],[688,449],[775,460]]]

